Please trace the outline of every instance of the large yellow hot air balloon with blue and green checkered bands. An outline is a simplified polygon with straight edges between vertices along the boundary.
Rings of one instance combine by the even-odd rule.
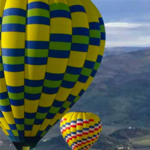
[[[90,0],[0,0],[0,122],[33,149],[91,84],[105,47]]]

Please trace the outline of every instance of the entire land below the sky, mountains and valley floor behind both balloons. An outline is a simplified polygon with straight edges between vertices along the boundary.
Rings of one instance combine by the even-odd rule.
[[[150,48],[107,48],[101,67],[71,111],[100,116],[103,131],[91,150],[150,149]],[[58,142],[59,141],[59,142]],[[57,124],[36,150],[70,150]],[[0,131],[0,150],[15,150]]]

